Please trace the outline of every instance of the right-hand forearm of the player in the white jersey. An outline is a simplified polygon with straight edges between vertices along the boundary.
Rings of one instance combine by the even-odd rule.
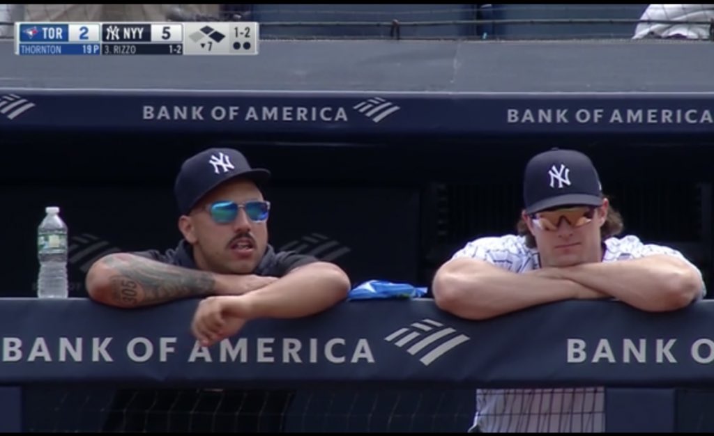
[[[616,262],[583,263],[556,274],[628,303],[641,310],[682,308],[700,295],[698,271],[670,255],[652,255]]]

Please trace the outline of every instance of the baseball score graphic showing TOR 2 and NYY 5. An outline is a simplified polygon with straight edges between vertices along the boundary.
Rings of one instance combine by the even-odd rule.
[[[20,56],[256,55],[258,23],[17,23]]]

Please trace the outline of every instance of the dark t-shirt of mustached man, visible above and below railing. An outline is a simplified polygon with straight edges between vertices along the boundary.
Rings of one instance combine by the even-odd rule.
[[[136,253],[183,268],[198,269],[193,248],[181,240],[163,253]],[[253,271],[255,275],[283,277],[298,266],[317,262],[310,255],[276,252],[268,245]],[[188,320],[186,321],[188,323]],[[291,390],[118,390],[104,424],[106,432],[281,432],[294,392]]]

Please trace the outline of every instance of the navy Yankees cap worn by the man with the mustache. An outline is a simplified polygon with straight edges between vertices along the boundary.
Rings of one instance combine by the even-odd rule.
[[[174,195],[178,210],[186,215],[203,196],[233,178],[247,178],[260,184],[270,179],[270,171],[251,168],[246,156],[233,148],[208,148],[186,159],[176,176]]]

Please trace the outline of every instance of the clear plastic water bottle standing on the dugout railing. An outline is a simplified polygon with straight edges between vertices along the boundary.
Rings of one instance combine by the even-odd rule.
[[[37,277],[39,298],[67,298],[67,225],[59,218],[59,208],[45,208],[45,216],[37,228],[37,258],[40,271]]]

